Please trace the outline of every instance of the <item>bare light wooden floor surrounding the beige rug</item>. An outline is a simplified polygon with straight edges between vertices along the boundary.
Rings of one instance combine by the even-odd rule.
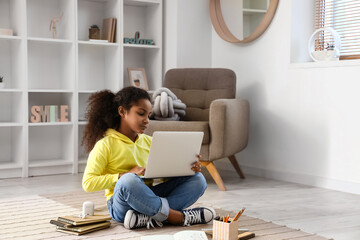
[[[208,179],[199,202],[301,229],[336,240],[360,239],[360,195],[247,176],[220,174],[228,191],[219,191]],[[82,175],[54,175],[0,180],[0,198],[81,190]]]

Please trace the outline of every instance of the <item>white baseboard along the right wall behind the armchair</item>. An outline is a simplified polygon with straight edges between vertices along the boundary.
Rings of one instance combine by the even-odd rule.
[[[229,170],[230,167],[232,167],[230,165],[228,166],[228,164],[221,164],[223,165],[222,168],[219,165],[217,166],[219,171],[221,169]],[[250,174],[258,177],[271,178],[286,182],[299,183],[314,187],[326,188],[326,189],[360,195],[360,183],[334,180],[330,178],[324,178],[324,177],[301,174],[301,173],[293,173],[293,172],[289,173],[284,171],[263,169],[263,168],[244,166],[244,165],[241,165],[241,169],[243,170],[245,176],[246,174]]]

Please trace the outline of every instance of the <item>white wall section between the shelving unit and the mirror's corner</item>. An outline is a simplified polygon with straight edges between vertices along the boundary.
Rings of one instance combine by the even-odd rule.
[[[208,0],[164,1],[164,71],[211,66]]]

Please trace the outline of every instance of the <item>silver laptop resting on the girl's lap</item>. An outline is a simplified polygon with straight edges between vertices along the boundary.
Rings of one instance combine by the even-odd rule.
[[[203,132],[154,132],[143,178],[194,175],[191,164],[200,153]]]

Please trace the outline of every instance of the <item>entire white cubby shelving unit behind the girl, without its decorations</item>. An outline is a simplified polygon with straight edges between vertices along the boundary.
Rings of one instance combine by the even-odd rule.
[[[128,67],[162,85],[162,0],[0,0],[0,179],[84,170],[87,99],[129,85]],[[57,38],[49,29],[60,17]],[[90,42],[88,29],[117,18],[116,42]],[[124,44],[124,37],[155,45]],[[31,123],[33,105],[68,105],[69,122]]]

